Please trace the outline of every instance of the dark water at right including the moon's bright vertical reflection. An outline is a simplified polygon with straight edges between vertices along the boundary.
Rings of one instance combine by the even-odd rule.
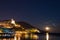
[[[39,35],[38,40],[60,40],[60,36],[49,35],[46,33],[46,35]]]

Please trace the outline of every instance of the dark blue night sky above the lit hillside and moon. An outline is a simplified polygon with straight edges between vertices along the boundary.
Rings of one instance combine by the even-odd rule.
[[[0,0],[0,20],[14,18],[38,28],[60,28],[59,0]],[[57,31],[58,31],[57,30]]]

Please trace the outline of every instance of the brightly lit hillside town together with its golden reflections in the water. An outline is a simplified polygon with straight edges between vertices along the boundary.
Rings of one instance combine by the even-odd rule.
[[[39,37],[35,33],[40,31],[23,22],[15,22],[13,19],[0,21],[0,39],[2,40],[37,40]]]

